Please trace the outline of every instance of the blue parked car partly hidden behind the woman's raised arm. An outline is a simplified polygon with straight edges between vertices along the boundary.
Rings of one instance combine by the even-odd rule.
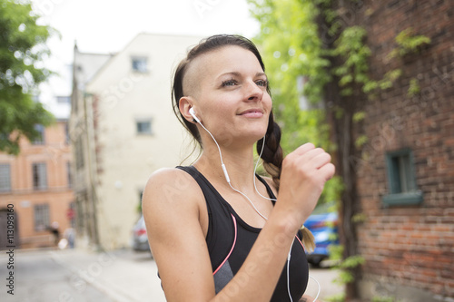
[[[315,210],[304,226],[311,230],[315,239],[315,249],[307,254],[308,262],[318,267],[321,261],[330,257],[329,247],[339,244],[338,213],[328,211],[327,207]]]

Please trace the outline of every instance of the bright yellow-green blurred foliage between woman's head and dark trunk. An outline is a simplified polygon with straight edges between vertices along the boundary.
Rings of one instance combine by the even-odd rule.
[[[321,57],[321,41],[312,19],[316,6],[308,0],[248,3],[252,15],[261,22],[261,32],[254,42],[260,45],[271,81],[273,112],[282,128],[282,149],[288,153],[311,141],[334,151],[330,127],[320,106],[323,87],[331,81],[331,74],[327,72],[329,61]],[[321,202],[338,200],[340,190],[341,179],[330,180]]]

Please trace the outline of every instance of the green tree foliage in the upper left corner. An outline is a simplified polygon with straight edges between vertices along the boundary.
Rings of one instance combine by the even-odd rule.
[[[52,28],[37,24],[29,2],[0,0],[0,151],[19,153],[22,137],[39,138],[35,125],[54,117],[35,101],[37,87],[51,74],[43,60]]]

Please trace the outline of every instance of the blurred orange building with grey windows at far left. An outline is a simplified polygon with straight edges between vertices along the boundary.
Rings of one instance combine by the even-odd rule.
[[[5,223],[7,208],[14,209],[16,248],[53,246],[52,226],[60,238],[74,226],[67,121],[36,129],[41,139],[23,139],[19,155],[0,153],[0,221]],[[5,248],[6,231],[3,226],[0,229],[0,248]]]

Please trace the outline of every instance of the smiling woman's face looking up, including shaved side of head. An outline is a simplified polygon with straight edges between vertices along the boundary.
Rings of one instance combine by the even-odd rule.
[[[272,103],[266,74],[252,52],[224,46],[197,57],[186,76],[193,108],[218,142],[253,143],[265,135]]]

